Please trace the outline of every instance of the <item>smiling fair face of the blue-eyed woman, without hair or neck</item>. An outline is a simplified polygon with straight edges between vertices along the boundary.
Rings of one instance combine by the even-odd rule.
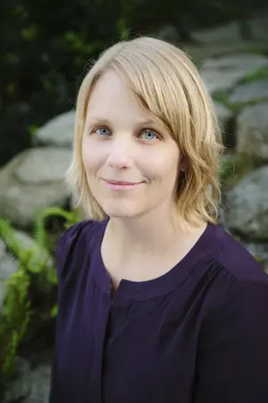
[[[177,143],[113,71],[96,82],[90,96],[82,159],[91,192],[108,216],[133,218],[172,208]]]

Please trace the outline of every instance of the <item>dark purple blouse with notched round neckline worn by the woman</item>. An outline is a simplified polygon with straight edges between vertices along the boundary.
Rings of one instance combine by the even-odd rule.
[[[170,271],[112,298],[106,223],[58,243],[50,403],[268,403],[268,276],[247,250],[209,224]]]

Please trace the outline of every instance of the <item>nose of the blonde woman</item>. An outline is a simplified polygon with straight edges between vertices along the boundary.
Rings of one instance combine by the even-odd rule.
[[[126,136],[125,136],[126,137]],[[130,167],[132,164],[133,144],[129,139],[122,138],[110,141],[107,165],[113,168]]]

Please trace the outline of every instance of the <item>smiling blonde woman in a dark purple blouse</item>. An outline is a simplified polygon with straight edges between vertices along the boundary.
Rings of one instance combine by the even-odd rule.
[[[77,102],[51,403],[267,403],[268,278],[216,224],[219,129],[195,66],[138,38]]]

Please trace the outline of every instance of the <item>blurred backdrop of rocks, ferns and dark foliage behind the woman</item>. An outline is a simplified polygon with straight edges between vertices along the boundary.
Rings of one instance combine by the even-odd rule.
[[[55,245],[81,218],[63,184],[76,97],[90,62],[120,39],[166,39],[197,64],[227,147],[221,225],[268,271],[267,26],[267,0],[2,0],[2,401],[47,401]]]

